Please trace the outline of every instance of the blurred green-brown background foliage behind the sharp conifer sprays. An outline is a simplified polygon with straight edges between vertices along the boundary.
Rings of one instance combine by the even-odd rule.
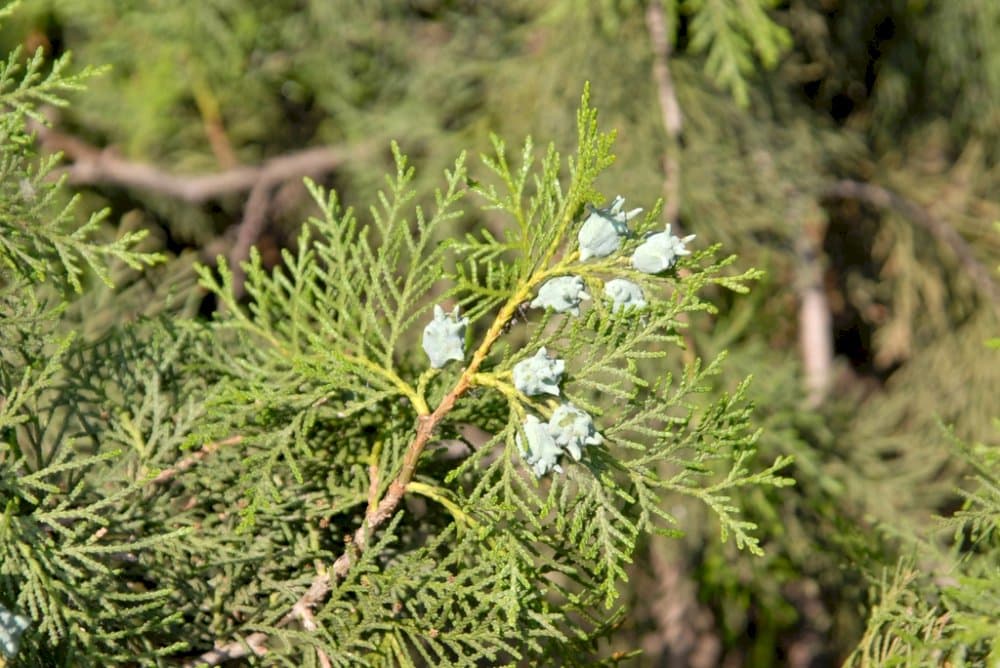
[[[633,614],[609,643],[643,648],[646,665],[822,666],[887,661],[873,648],[914,601],[927,621],[907,632],[944,624],[967,602],[934,573],[997,586],[995,566],[982,572],[996,537],[942,537],[935,523],[968,508],[961,490],[988,478],[970,478],[970,461],[997,446],[1000,364],[985,343],[998,331],[997,34],[993,0],[30,0],[0,39],[112,66],[60,110],[57,133],[181,175],[357,148],[314,174],[348,203],[380,183],[391,139],[426,197],[490,132],[570,148],[590,81],[618,132],[608,197],[648,209],[666,195],[685,233],[767,271],[749,296],[714,295],[688,342],[704,358],[728,351],[719,389],[755,377],[762,457],[795,455],[797,481],[735,500],[763,528],[762,558],[720,543],[695,505],[671,508],[687,534],[645,546],[623,592]],[[81,330],[212,308],[191,267],[232,248],[246,192],[189,203],[69,175],[91,210],[152,230],[173,258],[91,292]],[[303,194],[297,178],[273,193],[256,239],[271,263]],[[809,295],[828,318],[818,393]],[[988,648],[967,645],[962,660],[985,664]]]

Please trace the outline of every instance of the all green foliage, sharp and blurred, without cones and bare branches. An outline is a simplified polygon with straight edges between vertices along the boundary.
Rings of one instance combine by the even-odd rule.
[[[953,456],[938,424],[987,443],[975,461],[993,438],[1000,367],[983,362],[981,343],[997,331],[996,300],[981,272],[970,279],[1000,257],[996,3],[160,4],[28,0],[2,10],[5,53],[41,45],[51,58],[3,66],[0,430],[17,450],[0,455],[10,483],[0,507],[20,499],[9,515],[27,532],[19,540],[46,537],[38,563],[76,569],[43,571],[55,578],[47,591],[85,592],[54,619],[101,629],[82,642],[66,622],[68,635],[53,640],[33,620],[23,662],[113,664],[131,652],[177,664],[216,643],[245,640],[239,649],[249,651],[254,632],[267,636],[274,663],[296,665],[319,665],[316,647],[354,663],[424,651],[424,662],[614,663],[642,647],[650,662],[768,666],[792,656],[835,663],[861,637],[869,661],[869,640],[931,659],[935,648],[977,642],[942,615],[983,611],[976,597],[988,577],[967,574],[986,562],[954,566],[972,556],[955,551],[965,541],[926,525],[975,489],[963,477],[973,464]],[[666,61],[654,56],[649,22],[659,8]],[[67,49],[87,72],[111,68],[77,90]],[[661,65],[679,136],[665,133]],[[572,109],[585,79],[602,125],[618,131],[618,159],[587,156],[602,171],[577,197],[571,189],[587,184],[555,148],[499,137],[545,137],[565,153],[579,139]],[[73,104],[61,106],[64,94]],[[35,131],[43,145],[61,137],[94,149],[38,156]],[[237,174],[321,145],[349,158],[314,173],[308,188],[297,175],[269,184],[253,292],[237,276],[238,298],[227,267],[199,274],[194,265],[231,252],[256,198],[227,191],[192,203],[100,175],[118,157],[182,180]],[[487,150],[486,163],[456,167],[465,149]],[[395,164],[404,153],[410,160]],[[845,179],[884,192],[845,196]],[[671,182],[671,222],[697,235],[696,254],[666,277],[636,275],[627,258],[642,234],[663,229],[650,209],[676,192]],[[380,187],[388,204],[372,195]],[[431,224],[436,189],[456,197],[442,214],[454,217]],[[647,209],[632,223],[640,232],[610,257],[570,258],[589,208],[619,193]],[[136,230],[151,233],[140,241]],[[740,258],[716,255],[718,244]],[[580,317],[530,308],[538,283],[510,303],[563,261],[592,297]],[[818,408],[803,401],[797,326],[810,271],[834,344],[833,384]],[[641,285],[648,308],[613,310],[602,285],[619,276]],[[750,294],[729,289],[751,278]],[[415,405],[444,401],[509,303],[392,518],[359,534],[372,471],[386,498],[422,424]],[[420,333],[436,304],[460,306],[473,322],[465,360],[426,372]],[[216,309],[210,326],[193,320]],[[608,440],[536,480],[518,437],[527,416],[544,425],[558,405],[521,397],[510,374],[542,345],[565,361],[561,398]],[[715,439],[720,424],[731,432]],[[794,456],[782,470],[795,486],[754,484],[770,472],[741,460],[751,448],[767,462]],[[20,474],[58,461],[85,465],[44,478],[60,490],[48,497],[18,487]],[[67,510],[90,513],[119,492],[65,539],[66,555],[87,554],[114,575],[76,556],[50,558],[62,534],[25,494],[56,508],[72,496]],[[560,531],[579,544],[559,542]],[[94,545],[167,539],[81,553],[98,533]],[[28,567],[18,555],[5,560]],[[309,618],[289,615],[344,555],[351,566],[319,597],[309,630]],[[959,585],[942,569],[961,572]],[[888,598],[909,597],[919,615],[878,603],[881,585],[866,594],[883,573]],[[3,580],[0,605],[27,614],[16,596],[30,583],[18,578]],[[128,605],[107,614],[93,605],[100,589],[119,586],[166,598],[132,617]],[[609,610],[612,590],[620,597]],[[895,617],[864,635],[858,611],[874,604]],[[122,629],[119,618],[135,623]],[[936,619],[940,639],[914,640]],[[141,637],[131,633],[147,622]],[[895,634],[904,622],[909,635]],[[187,649],[154,656],[177,640]]]

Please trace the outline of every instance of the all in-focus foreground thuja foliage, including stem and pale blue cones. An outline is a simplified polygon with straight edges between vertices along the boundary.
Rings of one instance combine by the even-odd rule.
[[[702,501],[723,539],[760,553],[734,497],[788,484],[788,460],[755,464],[747,384],[706,401],[721,356],[657,370],[712,311],[701,291],[743,292],[758,272],[672,236],[658,205],[601,208],[613,138],[587,94],[565,161],[494,139],[423,207],[394,147],[363,213],[309,183],[319,215],[279,268],[251,257],[246,300],[220,261],[200,269],[210,322],[81,340],[66,287],[100,287],[80,259],[110,277],[159,258],[133,249],[139,235],[91,240],[100,220],[66,208],[25,124],[76,80],[35,65],[17,79],[16,63],[2,127],[4,182],[20,185],[0,255],[9,665],[589,663],[625,612],[638,541],[684,529],[668,499]],[[473,207],[496,224],[457,234]],[[543,292],[560,279],[571,296]]]

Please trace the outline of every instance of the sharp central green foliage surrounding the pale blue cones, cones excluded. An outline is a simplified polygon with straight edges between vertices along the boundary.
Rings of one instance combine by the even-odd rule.
[[[693,255],[684,277],[631,270],[629,250],[657,225],[657,210],[621,253],[581,263],[575,231],[584,205],[599,203],[593,182],[610,164],[611,137],[598,130],[586,96],[578,127],[566,185],[554,148],[535,170],[530,141],[521,164],[510,165],[499,139],[495,156],[484,159],[493,180],[468,176],[460,158],[446,172],[433,211],[418,206],[412,218],[404,213],[413,197],[412,170],[398,149],[396,176],[370,210],[370,223],[311,185],[322,216],[303,229],[283,269],[268,273],[253,256],[246,307],[232,294],[225,263],[219,278],[200,270],[225,306],[212,340],[229,342],[226,352],[209,349],[199,360],[216,379],[206,420],[211,432],[200,438],[235,432],[254,444],[239,483],[249,498],[244,531],[261,531],[259,514],[313,484],[317,467],[328,490],[343,498],[328,519],[341,531],[374,522],[372,508],[397,485],[444,511],[370,527],[378,542],[352,562],[336,597],[317,609],[314,623],[323,632],[306,641],[331,657],[465,663],[539,657],[569,641],[589,641],[604,628],[596,606],[616,601],[638,538],[677,524],[662,507],[671,494],[703,500],[718,514],[724,538],[732,534],[759,552],[754,526],[739,518],[731,496],[748,486],[787,484],[778,471],[788,460],[761,472],[748,467],[755,434],[745,387],[699,411],[693,398],[718,373],[717,362],[676,381],[644,378],[637,365],[677,346],[681,313],[710,309],[700,290],[742,290],[757,274],[725,274],[731,259],[713,262],[715,249]],[[509,224],[499,234],[431,244],[463,215],[456,207],[470,196],[502,211]],[[643,285],[651,305],[629,318],[598,301],[579,318],[538,313],[514,325],[537,287],[564,274],[582,276],[594,294],[602,280],[628,276]],[[435,292],[437,300],[457,301],[477,334],[465,365],[427,369],[414,345],[412,329],[430,319]],[[516,351],[511,337],[523,337]],[[571,369],[565,397],[603,416],[607,447],[589,448],[581,465],[537,481],[516,437],[525,415],[547,417],[554,405],[517,392],[509,374],[527,351],[542,346],[559,351]],[[424,449],[424,422],[441,437],[455,438],[470,425],[492,436],[460,439],[471,452],[449,463],[440,450]],[[366,465],[372,487],[362,520],[366,495],[357,481]],[[661,466],[672,471],[669,477],[659,474]],[[355,543],[367,541],[367,532],[363,525]],[[362,585],[364,595],[354,589]],[[347,625],[345,605],[354,620]],[[454,606],[463,610],[459,619],[443,612]],[[391,620],[386,610],[394,610]],[[573,621],[577,615],[592,621]],[[519,633],[510,637],[504,626]],[[252,619],[244,628],[275,636],[289,657],[305,660],[300,632]]]

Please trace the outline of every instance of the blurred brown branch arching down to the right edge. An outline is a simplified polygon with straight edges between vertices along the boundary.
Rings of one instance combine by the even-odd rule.
[[[943,220],[932,216],[919,204],[883,188],[861,181],[844,179],[823,189],[827,198],[853,199],[880,209],[894,209],[917,225],[927,230],[938,243],[947,246],[958,258],[959,263],[972,278],[976,287],[993,302],[1000,298],[996,283],[989,270],[976,259],[972,247],[955,229]]]

